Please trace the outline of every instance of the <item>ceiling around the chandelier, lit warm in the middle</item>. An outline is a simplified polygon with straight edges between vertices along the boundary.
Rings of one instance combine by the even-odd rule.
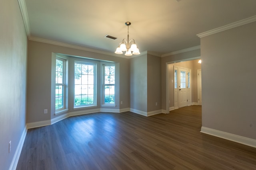
[[[158,55],[196,47],[196,35],[256,15],[256,0],[19,0],[29,39],[114,53],[122,39]],[[105,35],[117,37],[116,40]]]

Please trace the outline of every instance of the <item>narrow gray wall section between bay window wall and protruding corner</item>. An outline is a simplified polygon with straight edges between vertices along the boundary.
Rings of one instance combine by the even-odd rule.
[[[147,112],[147,55],[130,59],[130,108]]]

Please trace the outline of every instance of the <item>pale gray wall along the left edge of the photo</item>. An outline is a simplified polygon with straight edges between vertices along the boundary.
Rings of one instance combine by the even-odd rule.
[[[0,169],[7,170],[26,130],[27,36],[18,0],[0,4]]]

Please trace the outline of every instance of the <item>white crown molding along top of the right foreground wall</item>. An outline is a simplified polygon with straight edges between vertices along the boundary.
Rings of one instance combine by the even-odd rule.
[[[225,31],[225,30],[228,30],[228,29],[231,29],[231,28],[234,28],[234,27],[238,27],[238,26],[241,26],[241,25],[244,25],[244,24],[247,24],[247,23],[251,23],[251,22],[254,22],[254,21],[256,21],[256,16],[252,16],[252,17],[246,18],[244,20],[236,21],[234,23],[230,23],[228,25],[224,25],[222,27],[218,27],[218,28],[212,29],[210,31],[199,33],[199,34],[197,34],[197,36],[200,37],[200,38],[206,37],[208,35],[212,35],[212,34],[215,34],[215,33],[221,32],[221,31]]]

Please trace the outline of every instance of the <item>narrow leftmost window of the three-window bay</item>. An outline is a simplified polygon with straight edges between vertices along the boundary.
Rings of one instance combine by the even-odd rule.
[[[65,89],[65,61],[56,59],[55,71],[55,110],[64,108],[64,89]]]

